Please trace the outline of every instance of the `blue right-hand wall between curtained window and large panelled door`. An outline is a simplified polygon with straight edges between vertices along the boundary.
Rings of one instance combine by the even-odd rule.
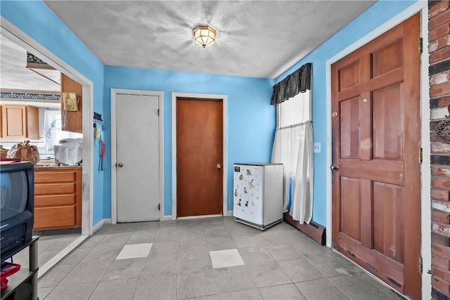
[[[375,30],[394,15],[399,14],[416,1],[378,1],[358,18],[350,22],[340,32],[316,48],[308,56],[290,67],[275,79],[279,82],[294,72],[304,63],[313,65],[313,121],[314,142],[321,143],[321,153],[314,153],[314,206],[312,219],[326,225],[326,148],[331,147],[326,141],[326,61],[335,54]]]

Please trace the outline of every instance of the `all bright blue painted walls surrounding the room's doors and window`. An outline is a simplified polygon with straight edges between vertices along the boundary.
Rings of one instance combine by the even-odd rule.
[[[416,1],[378,1],[306,58],[273,79],[220,76],[127,67],[103,67],[42,1],[0,1],[1,15],[49,51],[94,82],[94,111],[103,114],[105,141],[110,143],[110,89],[164,91],[165,99],[165,215],[172,214],[171,95],[174,92],[220,93],[228,96],[229,209],[232,209],[233,162],[269,161],[274,138],[274,107],[269,105],[271,86],[304,63],[313,63],[314,141],[322,152],[314,156],[313,219],[326,224],[326,60],[397,15]],[[104,81],[103,81],[104,78]],[[98,153],[98,145],[94,145]],[[110,161],[107,149],[105,162]],[[94,225],[110,218],[110,165],[97,171],[94,155]]]

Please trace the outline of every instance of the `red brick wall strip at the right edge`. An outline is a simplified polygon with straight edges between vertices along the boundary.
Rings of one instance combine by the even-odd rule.
[[[432,297],[450,299],[450,144],[435,135],[450,115],[450,1],[428,1],[430,53]]]

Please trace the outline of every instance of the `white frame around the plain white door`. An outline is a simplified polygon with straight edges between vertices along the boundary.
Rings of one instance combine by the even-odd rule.
[[[158,199],[160,200],[160,220],[164,218],[164,93],[162,91],[143,91],[129,89],[111,89],[111,223],[117,223],[117,169],[115,168],[117,155],[116,126],[116,97],[117,95],[157,96],[160,115],[158,117],[158,143],[160,146],[160,187]]]

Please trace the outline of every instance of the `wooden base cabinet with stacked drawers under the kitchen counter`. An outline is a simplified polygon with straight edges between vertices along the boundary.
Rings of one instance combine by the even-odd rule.
[[[34,230],[81,228],[82,168],[34,168]]]

